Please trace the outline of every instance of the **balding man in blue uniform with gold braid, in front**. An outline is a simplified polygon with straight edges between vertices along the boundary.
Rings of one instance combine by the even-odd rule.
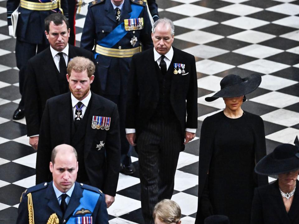
[[[22,194],[17,224],[108,223],[105,195],[76,182],[78,161],[72,146],[63,144],[53,149],[50,171],[53,181],[28,188]]]

